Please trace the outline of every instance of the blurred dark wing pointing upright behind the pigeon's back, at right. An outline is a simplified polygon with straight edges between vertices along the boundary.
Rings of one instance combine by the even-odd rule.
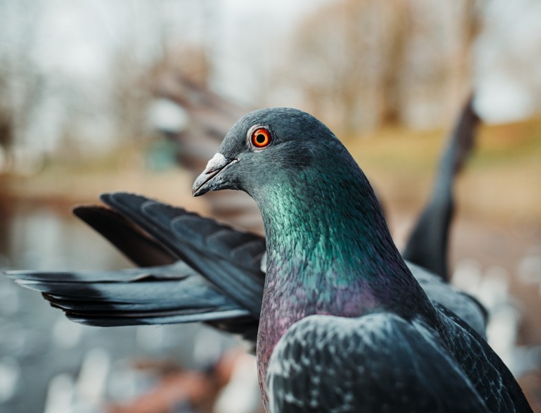
[[[470,96],[440,160],[432,198],[418,218],[402,254],[405,260],[427,268],[446,282],[449,282],[447,243],[454,213],[454,179],[474,145],[479,123],[472,103],[473,96]]]

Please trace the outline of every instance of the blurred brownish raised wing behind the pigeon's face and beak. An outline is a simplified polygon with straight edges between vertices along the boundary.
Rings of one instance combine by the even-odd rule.
[[[153,126],[167,138],[178,142],[178,162],[189,169],[193,178],[213,157],[231,125],[248,112],[248,109],[182,76],[174,66],[163,67],[158,72],[155,94],[158,99],[153,106]],[[165,124],[166,116],[171,116],[167,122],[176,124],[175,127]],[[217,218],[262,232],[259,209],[248,195],[232,191],[209,195],[207,202]]]

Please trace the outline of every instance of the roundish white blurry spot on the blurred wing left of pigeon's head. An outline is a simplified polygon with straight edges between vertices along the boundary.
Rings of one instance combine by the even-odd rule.
[[[180,133],[187,129],[189,122],[188,113],[172,100],[155,99],[149,107],[151,127],[165,134]]]

